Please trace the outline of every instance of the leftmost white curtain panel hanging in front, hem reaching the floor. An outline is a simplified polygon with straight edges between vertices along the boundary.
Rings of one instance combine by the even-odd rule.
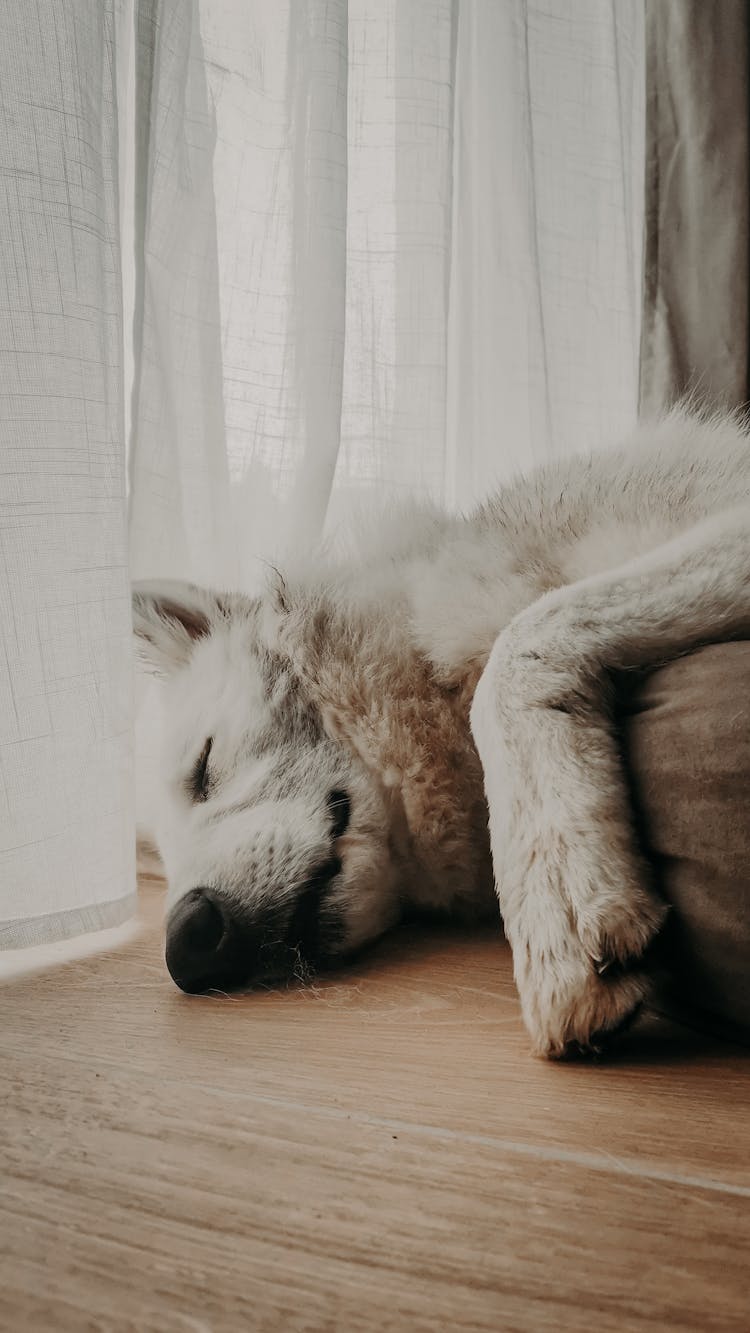
[[[135,906],[117,71],[125,8],[0,9],[0,946]]]

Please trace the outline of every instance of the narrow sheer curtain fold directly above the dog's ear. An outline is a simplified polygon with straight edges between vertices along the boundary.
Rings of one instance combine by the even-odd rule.
[[[198,0],[139,0],[135,71],[131,568],[226,579],[217,125]]]

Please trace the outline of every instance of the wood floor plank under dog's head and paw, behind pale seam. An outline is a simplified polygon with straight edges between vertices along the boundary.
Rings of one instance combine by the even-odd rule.
[[[145,909],[121,953],[0,988],[3,1046],[750,1185],[747,1050],[653,1020],[599,1065],[536,1060],[492,934],[404,936],[313,988],[188,997],[164,968],[156,894]]]

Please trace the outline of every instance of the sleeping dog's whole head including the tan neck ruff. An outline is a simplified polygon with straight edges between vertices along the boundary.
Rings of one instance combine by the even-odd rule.
[[[143,659],[164,677],[153,833],[167,962],[185,990],[304,976],[406,902],[489,885],[465,706],[398,617],[330,593],[141,584]]]

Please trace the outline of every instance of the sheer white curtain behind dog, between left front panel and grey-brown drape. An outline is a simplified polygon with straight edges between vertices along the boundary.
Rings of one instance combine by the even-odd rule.
[[[466,505],[631,423],[642,24],[141,0],[136,575],[252,583],[352,492]]]

